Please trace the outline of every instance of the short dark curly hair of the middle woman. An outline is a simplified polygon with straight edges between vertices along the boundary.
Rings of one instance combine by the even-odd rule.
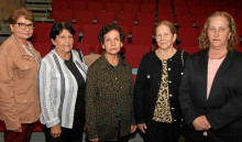
[[[122,43],[124,43],[125,33],[122,31],[122,29],[118,24],[110,23],[110,24],[107,24],[107,25],[102,26],[101,30],[100,30],[100,33],[98,34],[98,40],[99,40],[100,44],[103,44],[105,35],[107,33],[109,33],[110,31],[112,31],[112,30],[116,30],[116,31],[119,32],[120,40],[121,40]]]

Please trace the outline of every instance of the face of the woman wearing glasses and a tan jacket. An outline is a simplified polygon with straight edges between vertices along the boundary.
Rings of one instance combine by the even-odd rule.
[[[16,23],[10,24],[10,29],[12,34],[15,35],[15,37],[20,41],[25,41],[30,39],[33,35],[34,30],[26,26],[25,29],[20,29],[18,23],[24,23],[24,24],[33,24],[30,20],[26,20],[24,17],[20,17],[16,20]]]

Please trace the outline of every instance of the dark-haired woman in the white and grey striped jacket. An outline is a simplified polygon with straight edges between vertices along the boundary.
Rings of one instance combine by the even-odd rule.
[[[87,65],[82,54],[73,50],[74,34],[69,23],[55,23],[50,35],[54,50],[38,68],[41,122],[46,142],[82,140]]]

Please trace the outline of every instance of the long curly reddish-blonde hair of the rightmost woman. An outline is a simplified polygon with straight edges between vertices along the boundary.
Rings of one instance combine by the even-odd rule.
[[[228,50],[237,50],[238,48],[238,35],[237,35],[237,24],[233,20],[233,18],[223,11],[216,11],[212,13],[206,21],[204,29],[199,35],[199,46],[201,50],[208,48],[210,45],[209,39],[208,39],[208,29],[210,24],[210,19],[215,17],[222,17],[226,18],[229,21],[229,29],[230,29],[230,39],[228,41]]]

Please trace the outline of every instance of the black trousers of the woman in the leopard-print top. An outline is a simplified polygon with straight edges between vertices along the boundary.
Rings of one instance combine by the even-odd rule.
[[[180,125],[178,122],[163,123],[151,121],[146,123],[145,142],[178,142]]]

